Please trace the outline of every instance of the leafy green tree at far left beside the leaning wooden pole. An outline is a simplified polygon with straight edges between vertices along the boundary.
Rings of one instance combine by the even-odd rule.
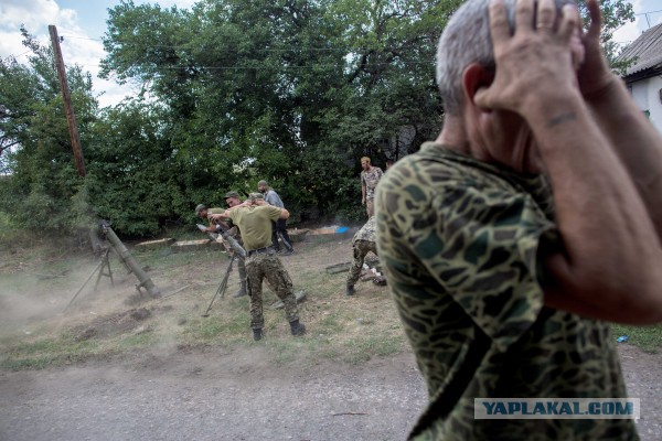
[[[23,44],[32,51],[28,65],[0,61],[0,144],[3,146],[8,197],[4,212],[26,228],[70,229],[75,224],[71,198],[82,185],[71,153],[53,51],[41,46],[25,29]],[[72,103],[85,125],[94,119],[92,79],[78,67],[70,69]],[[11,150],[10,150],[11,148]]]

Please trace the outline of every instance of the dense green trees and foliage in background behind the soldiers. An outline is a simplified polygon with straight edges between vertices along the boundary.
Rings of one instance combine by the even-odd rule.
[[[265,179],[292,220],[363,219],[359,159],[384,166],[440,129],[435,50],[460,4],[202,0],[180,10],[121,0],[109,9],[102,75],[141,93],[98,109],[89,74],[67,69],[85,179],[52,50],[23,30],[30,63],[0,60],[0,173],[11,176],[0,211],[25,228],[73,233],[104,218],[120,235],[153,236]],[[632,7],[601,8],[613,58],[611,33]]]

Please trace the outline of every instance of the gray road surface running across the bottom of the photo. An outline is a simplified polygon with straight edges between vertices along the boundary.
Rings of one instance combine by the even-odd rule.
[[[0,373],[0,439],[404,440],[426,402],[410,354],[360,365],[268,362],[268,346]],[[662,439],[660,355],[621,346],[642,440]]]

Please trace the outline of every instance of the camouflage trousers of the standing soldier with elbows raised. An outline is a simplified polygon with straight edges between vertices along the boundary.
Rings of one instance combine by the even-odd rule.
[[[292,290],[292,280],[282,262],[276,256],[261,254],[246,258],[246,272],[250,286],[250,327],[261,330],[265,326],[263,314],[261,282],[267,279],[276,295],[285,304],[285,318],[288,322],[299,320],[297,298]]]

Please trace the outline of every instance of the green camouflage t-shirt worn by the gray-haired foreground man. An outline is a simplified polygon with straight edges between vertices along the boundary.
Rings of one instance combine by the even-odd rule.
[[[377,249],[429,405],[421,440],[637,440],[632,420],[481,420],[474,398],[626,397],[604,322],[543,305],[562,247],[543,176],[425,143],[376,194]]]

